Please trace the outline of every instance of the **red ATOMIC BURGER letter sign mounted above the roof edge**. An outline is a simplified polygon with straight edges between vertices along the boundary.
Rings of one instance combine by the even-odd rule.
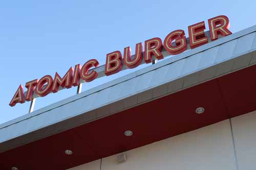
[[[221,15],[208,19],[208,27],[211,41],[218,39],[218,36],[227,36],[232,34],[229,28],[229,20],[226,16]],[[187,50],[188,43],[190,48],[196,48],[208,42],[208,37],[205,35],[205,22],[199,22],[188,26],[189,42],[186,41],[184,30],[175,30],[169,33],[164,40],[160,38],[152,38],[144,42],[144,56],[142,42],[135,45],[135,56],[131,56],[131,47],[125,47],[123,54],[120,51],[115,51],[106,55],[105,75],[110,76],[119,72],[123,65],[127,68],[135,68],[141,64],[142,59],[145,63],[151,63],[152,58],[157,60],[163,59],[163,48],[170,55],[177,55]],[[175,42],[175,43],[173,43]],[[85,82],[91,82],[97,78],[98,73],[95,70],[89,71],[93,67],[97,67],[99,62],[91,59],[83,65],[77,64],[75,67],[70,67],[67,73],[60,77],[56,72],[55,76],[46,75],[41,79],[35,79],[26,83],[27,92],[24,93],[24,88],[19,85],[10,102],[10,106],[15,106],[16,103],[24,103],[31,101],[33,93],[38,96],[46,96],[50,92],[58,92],[59,86],[63,88],[71,88],[79,85],[80,79]]]

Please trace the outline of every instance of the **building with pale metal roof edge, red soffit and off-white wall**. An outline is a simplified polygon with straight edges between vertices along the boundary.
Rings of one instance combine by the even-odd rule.
[[[253,169],[256,26],[0,125],[1,169]]]

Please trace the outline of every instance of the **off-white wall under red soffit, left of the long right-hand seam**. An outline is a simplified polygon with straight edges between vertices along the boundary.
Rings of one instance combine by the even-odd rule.
[[[126,155],[124,163],[118,163],[117,155],[103,158],[101,170],[237,169],[229,120],[127,151]],[[90,162],[70,170],[99,170],[99,164]]]

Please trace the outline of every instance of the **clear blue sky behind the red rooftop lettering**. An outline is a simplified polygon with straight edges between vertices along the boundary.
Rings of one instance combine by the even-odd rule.
[[[238,32],[256,24],[256,2],[244,1],[2,1],[0,3],[0,124],[28,113],[29,102],[10,107],[19,84],[60,76],[75,64],[218,15]],[[208,27],[207,27],[208,30]],[[132,52],[134,53],[134,52]],[[133,70],[130,70],[133,71]],[[84,83],[83,90],[120,77]],[[26,88],[25,88],[26,89]],[[25,90],[26,91],[26,90]],[[35,109],[74,95],[76,88],[38,98]]]

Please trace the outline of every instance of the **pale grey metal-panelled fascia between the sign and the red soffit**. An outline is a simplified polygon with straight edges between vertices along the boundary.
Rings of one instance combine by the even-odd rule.
[[[57,126],[64,120],[71,121],[71,127],[65,128],[79,126],[254,64],[255,31],[256,26],[253,26],[11,120],[0,125],[0,146],[10,139],[51,125]],[[79,120],[75,119],[77,116],[81,116]],[[74,122],[72,118],[78,122]],[[58,126],[48,134],[47,131],[44,134],[37,134],[40,136],[35,138],[67,130],[63,128]],[[19,144],[30,140],[24,139],[19,141]]]

